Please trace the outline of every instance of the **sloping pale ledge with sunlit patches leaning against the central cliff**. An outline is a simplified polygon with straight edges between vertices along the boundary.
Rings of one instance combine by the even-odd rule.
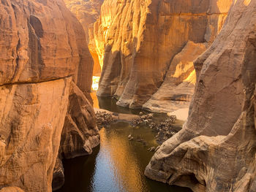
[[[170,112],[189,106],[195,90],[193,61],[206,50],[206,44],[187,42],[187,45],[170,63],[165,81],[143,109],[154,112]]]

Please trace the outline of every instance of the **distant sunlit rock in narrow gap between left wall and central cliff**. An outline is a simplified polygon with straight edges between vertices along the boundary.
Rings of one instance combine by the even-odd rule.
[[[94,23],[99,18],[100,7],[103,0],[64,0],[67,8],[78,18],[86,32],[86,41],[88,42],[89,50],[94,59],[94,76],[100,76],[101,66],[99,58],[95,50],[94,43]]]

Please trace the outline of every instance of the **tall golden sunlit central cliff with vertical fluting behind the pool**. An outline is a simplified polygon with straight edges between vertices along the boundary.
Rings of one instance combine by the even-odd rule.
[[[142,107],[162,85],[168,69],[169,74],[174,73],[172,64],[177,64],[173,58],[187,51],[188,41],[198,44],[195,54],[203,51],[202,43],[211,44],[231,2],[105,0],[94,25],[97,54],[103,64],[97,95],[116,96],[117,104],[124,107]],[[191,59],[188,56],[182,61]],[[187,80],[188,70],[180,81]],[[175,98],[172,96],[167,93],[169,100]]]

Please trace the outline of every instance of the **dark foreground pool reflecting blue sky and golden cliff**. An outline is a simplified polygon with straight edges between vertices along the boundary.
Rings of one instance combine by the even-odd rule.
[[[110,109],[111,110],[111,109]],[[132,128],[119,121],[99,131],[100,147],[92,155],[64,161],[65,184],[59,192],[185,192],[179,188],[149,180],[143,172],[157,147],[150,128]],[[135,138],[128,140],[129,134]],[[146,146],[136,139],[146,141]]]

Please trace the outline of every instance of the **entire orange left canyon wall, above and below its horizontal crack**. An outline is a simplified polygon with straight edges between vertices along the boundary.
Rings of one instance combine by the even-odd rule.
[[[99,144],[86,36],[62,0],[1,1],[0,21],[0,188],[52,191],[63,127],[79,155]]]

